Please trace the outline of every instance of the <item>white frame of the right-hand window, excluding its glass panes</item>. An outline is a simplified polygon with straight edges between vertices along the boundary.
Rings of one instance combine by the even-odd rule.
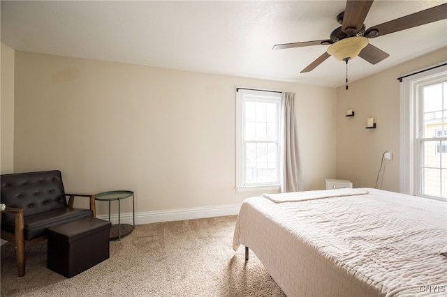
[[[423,125],[422,90],[425,86],[447,81],[447,66],[434,66],[430,70],[420,71],[406,77],[400,84],[400,192],[447,201],[444,197],[434,197],[422,193],[422,145],[425,140],[420,137]],[[436,140],[443,140],[440,137]]]

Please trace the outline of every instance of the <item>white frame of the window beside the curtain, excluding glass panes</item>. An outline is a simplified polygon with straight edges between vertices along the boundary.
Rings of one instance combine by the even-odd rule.
[[[237,89],[236,91],[236,186],[237,192],[256,191],[256,190],[279,190],[281,184],[281,147],[283,133],[281,129],[281,92],[279,91],[257,91],[250,89]],[[277,105],[277,182],[275,183],[255,183],[247,184],[246,178],[246,141],[245,132],[245,107],[247,101],[252,102],[272,102]],[[256,141],[255,141],[256,142]],[[258,141],[263,142],[263,141]],[[270,141],[269,141],[270,142]]]

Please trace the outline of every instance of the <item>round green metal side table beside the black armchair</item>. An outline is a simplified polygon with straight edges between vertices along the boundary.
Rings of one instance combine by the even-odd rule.
[[[132,213],[133,225],[121,223],[121,200],[132,197]],[[121,241],[122,236],[130,234],[135,229],[135,195],[132,191],[118,190],[100,192],[95,195],[95,200],[109,202],[109,222],[110,222],[110,203],[118,201],[118,224],[112,224],[110,228],[110,239],[117,239]]]

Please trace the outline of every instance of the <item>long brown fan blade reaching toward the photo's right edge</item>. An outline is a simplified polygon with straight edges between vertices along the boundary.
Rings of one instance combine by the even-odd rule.
[[[383,36],[385,34],[410,29],[415,26],[421,26],[423,24],[429,24],[431,22],[444,20],[446,18],[447,18],[447,3],[444,3],[439,6],[434,6],[432,8],[419,11],[418,13],[412,13],[411,15],[406,15],[404,17],[400,17],[398,19],[391,20],[383,24],[372,26],[371,28],[367,29],[367,31],[365,31],[365,36],[368,36],[369,38],[374,38],[377,36]],[[378,32],[374,34],[374,32],[372,32],[374,30]]]

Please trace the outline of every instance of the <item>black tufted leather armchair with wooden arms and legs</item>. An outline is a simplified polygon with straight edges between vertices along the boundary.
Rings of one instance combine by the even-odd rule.
[[[59,170],[2,174],[0,183],[0,202],[6,204],[1,238],[15,243],[19,276],[25,275],[25,246],[45,240],[47,228],[96,217],[95,195],[67,194]],[[75,197],[89,198],[90,209],[73,208]]]

